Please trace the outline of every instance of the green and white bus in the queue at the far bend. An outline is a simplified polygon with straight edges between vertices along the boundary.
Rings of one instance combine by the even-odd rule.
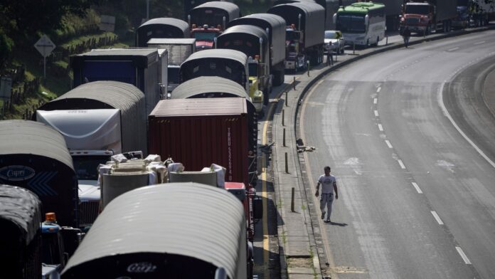
[[[334,14],[334,23],[347,45],[378,45],[385,38],[385,5],[358,2],[341,7]]]

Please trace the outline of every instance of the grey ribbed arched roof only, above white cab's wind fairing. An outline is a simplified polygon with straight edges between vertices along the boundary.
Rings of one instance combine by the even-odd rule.
[[[47,102],[38,110],[132,109],[144,102],[144,93],[136,86],[119,81],[100,80],[79,85],[68,93]]]

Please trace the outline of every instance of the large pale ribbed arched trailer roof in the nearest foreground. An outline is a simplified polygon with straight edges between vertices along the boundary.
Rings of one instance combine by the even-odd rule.
[[[150,256],[154,253],[196,258],[225,268],[231,279],[245,278],[245,246],[243,206],[228,191],[193,182],[144,186],[105,207],[62,274],[64,278],[94,275],[88,267],[105,260],[112,264],[101,268],[112,272],[119,269],[119,258],[130,255],[134,258],[130,263],[154,265],[153,275],[165,278],[164,269],[174,266],[154,261],[156,256]],[[121,268],[121,276],[133,274],[126,274],[128,264]]]

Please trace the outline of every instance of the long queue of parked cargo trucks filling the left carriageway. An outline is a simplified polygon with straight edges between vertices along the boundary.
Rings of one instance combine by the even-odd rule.
[[[417,17],[336,2],[278,0],[239,17],[233,3],[196,1],[186,21],[142,23],[136,48],[72,56],[73,90],[32,121],[0,122],[2,274],[252,278],[257,121],[273,86],[323,61],[326,28]],[[163,185],[140,187],[151,184]]]

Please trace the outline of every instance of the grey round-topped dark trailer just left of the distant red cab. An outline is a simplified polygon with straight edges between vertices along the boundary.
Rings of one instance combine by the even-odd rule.
[[[189,38],[189,24],[181,19],[157,18],[141,24],[136,30],[137,47],[146,47],[151,38]]]

